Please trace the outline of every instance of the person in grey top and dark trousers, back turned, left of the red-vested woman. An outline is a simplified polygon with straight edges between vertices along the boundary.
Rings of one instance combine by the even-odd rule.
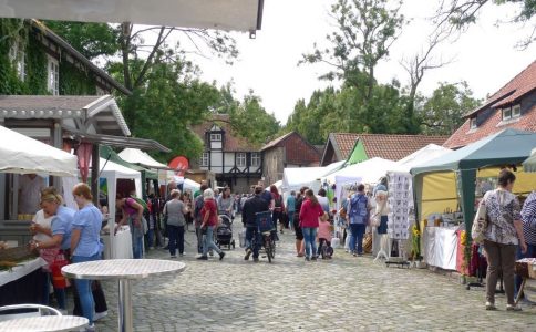
[[[174,189],[171,193],[172,199],[164,206],[164,216],[167,216],[167,236],[169,238],[169,256],[176,258],[176,249],[178,248],[178,256],[184,255],[184,230],[186,219],[184,215],[188,212],[188,208],[182,201],[181,190]]]

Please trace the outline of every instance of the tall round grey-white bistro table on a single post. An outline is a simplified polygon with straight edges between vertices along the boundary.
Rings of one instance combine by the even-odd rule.
[[[69,264],[63,276],[74,279],[118,280],[118,331],[133,331],[131,280],[150,276],[181,273],[186,264],[162,259],[109,259]]]

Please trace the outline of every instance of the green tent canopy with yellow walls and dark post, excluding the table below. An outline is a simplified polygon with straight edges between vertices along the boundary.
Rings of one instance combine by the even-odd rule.
[[[483,168],[486,167],[519,165],[528,157],[534,146],[536,146],[536,133],[508,128],[412,168],[411,174],[414,176],[418,212],[423,216],[424,212],[430,211],[423,208],[424,201],[427,200],[434,204],[434,201],[440,200],[439,197],[441,195],[451,193],[450,196],[453,197],[449,199],[454,199],[462,207],[465,227],[470,231],[474,217],[477,173],[484,172],[485,169]],[[498,168],[495,168],[492,174],[496,175],[497,170]],[[445,177],[443,177],[443,181],[439,180],[440,177],[436,177],[434,180],[429,179],[427,181],[425,179],[426,175],[445,175],[447,177],[451,176],[452,179],[453,173],[455,174],[454,178],[457,179],[458,189],[456,191],[456,180],[451,180],[450,184],[453,184],[454,193],[445,187],[447,184],[447,181],[444,181]],[[529,181],[520,180],[519,178],[520,175],[526,177],[527,174],[523,174],[519,169],[519,173],[516,175],[518,176],[516,187],[532,187]],[[424,187],[426,185],[435,186],[435,197],[434,194],[429,195],[430,190],[425,190]],[[517,189],[517,193],[524,190],[519,188],[514,189]],[[458,193],[461,200],[457,199]],[[435,212],[439,211],[436,210]]]

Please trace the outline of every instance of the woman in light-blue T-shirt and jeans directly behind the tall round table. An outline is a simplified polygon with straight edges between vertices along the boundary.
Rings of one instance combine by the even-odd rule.
[[[93,205],[91,189],[86,184],[78,184],[73,196],[80,210],[72,222],[71,252],[73,263],[100,260],[103,245],[100,239],[102,214]],[[83,315],[93,324],[94,300],[91,292],[91,280],[75,279]]]

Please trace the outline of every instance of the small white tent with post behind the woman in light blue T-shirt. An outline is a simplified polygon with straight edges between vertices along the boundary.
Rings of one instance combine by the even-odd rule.
[[[107,204],[110,216],[115,216],[115,195],[117,191],[117,179],[133,179],[136,185],[136,196],[142,197],[142,174],[137,170],[127,168],[120,164],[101,158],[101,178],[105,178],[107,183]],[[113,227],[110,228],[110,256],[116,258],[117,248],[115,242],[115,235]],[[132,251],[132,246],[126,248],[127,251]],[[132,255],[131,255],[132,257]]]

